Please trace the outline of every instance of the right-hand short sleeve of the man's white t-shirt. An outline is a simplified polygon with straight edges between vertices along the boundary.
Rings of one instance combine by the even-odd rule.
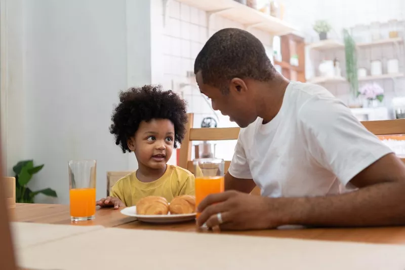
[[[301,107],[299,120],[311,156],[345,186],[392,152],[335,98],[311,98]]]

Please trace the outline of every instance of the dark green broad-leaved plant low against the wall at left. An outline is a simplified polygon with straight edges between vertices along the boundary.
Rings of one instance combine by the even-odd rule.
[[[51,197],[57,197],[56,191],[51,188],[32,191],[27,186],[32,175],[41,171],[43,167],[44,165],[34,167],[34,162],[32,160],[20,161],[13,167],[13,171],[16,174],[16,203],[33,203],[34,197],[40,193]]]

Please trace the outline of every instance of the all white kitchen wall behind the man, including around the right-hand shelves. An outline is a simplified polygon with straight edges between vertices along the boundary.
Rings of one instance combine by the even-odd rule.
[[[316,33],[312,30],[312,25],[317,19],[328,19],[334,27],[330,36],[339,37],[342,27],[353,26],[356,23],[400,19],[404,17],[405,11],[405,2],[403,0],[389,0],[386,2],[381,2],[380,0],[341,0],[330,1],[328,5],[323,0],[283,0],[282,2],[285,5],[284,19],[298,27],[308,41],[317,38]],[[363,12],[359,12],[359,10]],[[195,57],[213,33],[227,27],[244,28],[243,25],[220,16],[213,16],[211,18],[209,31],[207,26],[207,14],[205,11],[189,7],[177,1],[170,3],[169,20],[164,29],[164,85],[168,88],[171,88],[173,85],[173,90],[181,92],[187,100],[189,111],[195,113],[194,127],[199,127],[204,117],[212,117],[212,109],[206,103],[201,102],[204,99],[201,99],[196,87],[183,87],[179,89],[179,83],[195,83],[194,79],[187,78],[186,73],[187,71],[193,71]],[[251,32],[262,41],[267,50],[272,52],[272,36],[256,29],[252,29]],[[367,59],[370,56],[384,59],[392,56],[391,48],[387,47],[382,50],[366,50],[362,52],[359,55],[359,65],[360,63],[362,65],[369,65],[369,60]],[[321,57],[333,59],[335,56],[344,63],[344,53],[342,52],[336,53],[336,55],[325,54],[317,57],[320,60]],[[404,70],[404,68],[404,66],[400,66],[401,70]],[[344,74],[343,64],[342,69]],[[384,101],[386,104],[390,102],[390,99],[394,95],[405,95],[405,80],[396,80],[395,84],[392,80],[384,80],[380,83],[388,89]],[[348,102],[347,85],[330,84],[325,85],[325,87],[344,102]],[[220,112],[217,114],[220,115]],[[235,126],[226,117],[221,116],[219,117],[219,127]],[[232,157],[233,146],[234,142],[232,141],[219,142],[217,156],[229,160]]]

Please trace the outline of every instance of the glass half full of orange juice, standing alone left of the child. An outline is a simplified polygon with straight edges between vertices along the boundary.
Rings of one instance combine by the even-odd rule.
[[[69,161],[70,219],[92,220],[96,215],[96,161]]]

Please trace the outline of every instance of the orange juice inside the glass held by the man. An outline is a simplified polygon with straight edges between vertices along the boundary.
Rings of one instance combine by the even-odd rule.
[[[208,195],[220,192],[224,192],[223,176],[195,178],[195,206],[198,206]]]

